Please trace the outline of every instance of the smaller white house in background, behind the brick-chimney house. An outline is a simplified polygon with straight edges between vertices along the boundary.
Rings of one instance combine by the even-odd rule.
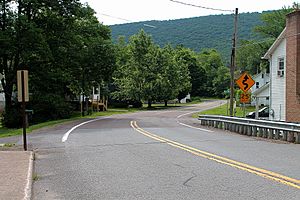
[[[270,74],[267,73],[267,70],[263,70],[252,78],[255,81],[255,84],[251,87],[252,97],[258,98],[259,106],[270,105]],[[253,98],[251,105],[256,105],[256,99]]]

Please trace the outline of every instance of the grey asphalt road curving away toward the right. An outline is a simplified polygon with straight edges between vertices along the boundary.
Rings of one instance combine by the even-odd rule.
[[[190,117],[219,104],[115,115],[68,133],[83,122],[77,121],[29,135],[39,178],[33,199],[299,200],[300,145],[201,127]]]

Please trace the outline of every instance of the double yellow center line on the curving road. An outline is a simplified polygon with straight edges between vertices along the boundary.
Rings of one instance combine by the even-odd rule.
[[[176,141],[172,141],[172,140],[163,138],[161,136],[155,135],[153,133],[150,133],[148,131],[145,131],[145,130],[141,129],[137,125],[136,121],[131,121],[130,124],[131,124],[131,127],[134,130],[136,130],[139,133],[141,133],[141,134],[143,134],[147,137],[150,137],[154,140],[166,143],[168,145],[171,145],[173,147],[182,149],[182,150],[187,151],[189,153],[192,153],[194,155],[197,155],[197,156],[209,159],[209,160],[213,160],[215,162],[225,164],[225,165],[228,165],[228,166],[240,169],[240,170],[244,170],[244,171],[250,172],[252,174],[256,174],[258,176],[261,176],[261,177],[264,177],[264,178],[267,178],[267,179],[271,179],[273,181],[276,181],[276,182],[279,182],[279,183],[282,183],[282,184],[300,189],[300,180],[290,178],[290,177],[287,177],[287,176],[284,176],[284,175],[281,175],[281,174],[278,174],[278,173],[275,173],[275,172],[272,172],[272,171],[268,171],[268,170],[265,170],[265,169],[261,169],[261,168],[258,168],[258,167],[254,167],[254,166],[251,166],[251,165],[248,165],[248,164],[245,164],[245,163],[241,163],[241,162],[238,162],[238,161],[235,161],[235,160],[231,160],[231,159],[226,158],[226,157],[218,156],[218,155],[206,152],[206,151],[196,149],[194,147],[190,147],[190,146],[181,144],[181,143],[176,142]]]

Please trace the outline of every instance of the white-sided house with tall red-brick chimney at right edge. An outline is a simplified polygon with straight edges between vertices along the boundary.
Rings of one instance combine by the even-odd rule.
[[[300,122],[300,11],[264,55],[270,63],[270,119]]]

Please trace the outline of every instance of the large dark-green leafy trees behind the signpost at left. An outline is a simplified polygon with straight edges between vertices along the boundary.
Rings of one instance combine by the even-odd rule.
[[[66,100],[112,74],[110,30],[79,0],[19,0],[17,8],[11,1],[2,1],[0,12],[4,119],[18,114],[18,104],[12,98],[18,69],[29,70],[29,107],[34,109],[36,122],[70,116],[72,109]],[[83,75],[86,83],[79,84]]]

